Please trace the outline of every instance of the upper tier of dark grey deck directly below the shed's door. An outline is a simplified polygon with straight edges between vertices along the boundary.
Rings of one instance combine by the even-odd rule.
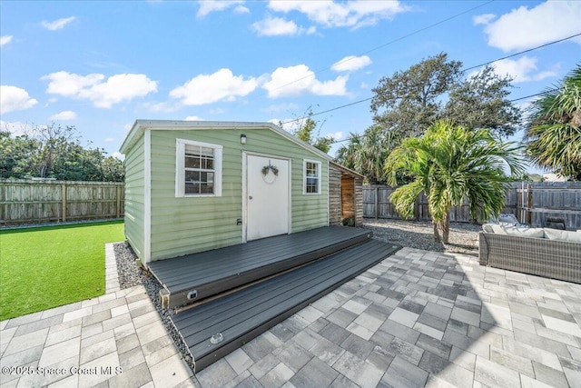
[[[179,307],[280,274],[367,241],[371,232],[340,226],[284,234],[148,264],[164,287],[162,306]]]

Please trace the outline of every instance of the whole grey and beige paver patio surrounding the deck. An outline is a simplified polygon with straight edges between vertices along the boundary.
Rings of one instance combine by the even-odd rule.
[[[0,386],[581,387],[581,285],[476,257],[404,248],[196,376],[108,267],[100,298],[0,323],[3,368],[97,373],[3,369]]]

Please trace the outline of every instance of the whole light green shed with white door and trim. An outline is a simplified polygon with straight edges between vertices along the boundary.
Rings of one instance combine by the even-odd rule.
[[[330,224],[330,156],[274,124],[137,120],[121,152],[144,264]]]

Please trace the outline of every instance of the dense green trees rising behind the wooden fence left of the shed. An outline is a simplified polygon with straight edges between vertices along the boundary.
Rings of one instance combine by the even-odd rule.
[[[122,182],[125,173],[119,159],[84,147],[74,126],[53,123],[20,135],[0,131],[0,177]]]

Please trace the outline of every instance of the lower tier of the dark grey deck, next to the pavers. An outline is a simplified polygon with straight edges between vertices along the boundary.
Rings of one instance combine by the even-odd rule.
[[[357,230],[339,229],[341,231],[337,233],[342,230]],[[317,249],[316,244],[307,244],[306,241],[298,244],[291,236],[282,239],[288,239],[292,243],[283,245],[281,251],[291,249],[306,254],[308,249]],[[325,247],[319,249],[325,250]],[[181,333],[192,355],[194,372],[201,371],[281,323],[291,314],[361,274],[398,249],[399,246],[392,244],[366,240],[285,274],[172,315],[172,323]],[[278,253],[275,255],[278,256]],[[222,337],[222,341],[212,342],[212,336]]]

